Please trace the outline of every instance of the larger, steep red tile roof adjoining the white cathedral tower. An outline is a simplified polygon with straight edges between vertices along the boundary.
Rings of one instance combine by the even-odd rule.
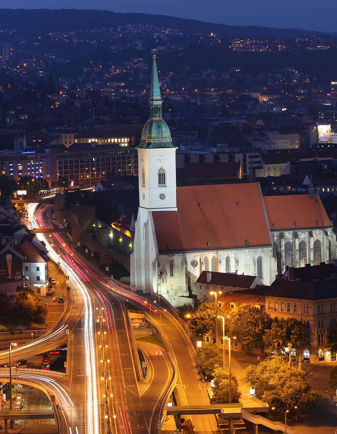
[[[271,245],[258,184],[177,187],[177,212],[152,216],[160,252]]]

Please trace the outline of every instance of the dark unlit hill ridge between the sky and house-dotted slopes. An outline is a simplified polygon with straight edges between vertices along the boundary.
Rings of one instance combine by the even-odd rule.
[[[16,29],[31,36],[44,32],[68,32],[76,29],[101,29],[125,24],[150,24],[180,29],[183,33],[211,32],[239,38],[292,38],[301,34],[326,35],[324,32],[301,29],[276,29],[262,26],[229,26],[145,13],[115,13],[108,10],[84,9],[0,9],[0,28]],[[336,36],[336,34],[334,34]]]

